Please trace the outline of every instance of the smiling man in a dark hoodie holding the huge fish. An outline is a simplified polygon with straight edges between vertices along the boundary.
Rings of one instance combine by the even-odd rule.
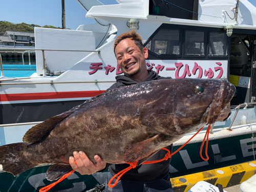
[[[161,77],[154,71],[148,71],[146,68],[146,60],[148,52],[143,48],[142,38],[135,32],[127,32],[117,37],[114,43],[114,52],[117,59],[117,64],[124,75],[116,77],[117,82],[113,84],[108,90],[116,89],[130,84],[156,80]],[[225,118],[229,113],[230,108],[222,114]],[[222,121],[223,119],[218,119]],[[166,147],[172,153],[172,145]],[[165,150],[160,150],[148,161],[160,160],[165,156]],[[90,175],[95,172],[100,172],[109,167],[110,173],[106,178],[108,184],[109,180],[118,172],[128,167],[129,164],[111,164],[108,165],[102,159],[95,155],[96,163],[92,163],[84,152],[73,153],[70,157],[70,165],[74,170],[81,175]],[[172,183],[169,178],[169,163],[170,158],[154,164],[142,164],[128,172],[126,172],[113,188],[105,187],[105,192],[108,191],[173,191]],[[112,181],[112,184],[115,180]]]

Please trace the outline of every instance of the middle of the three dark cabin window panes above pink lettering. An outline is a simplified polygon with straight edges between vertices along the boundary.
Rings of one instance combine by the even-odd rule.
[[[185,32],[185,55],[204,55],[204,32]]]

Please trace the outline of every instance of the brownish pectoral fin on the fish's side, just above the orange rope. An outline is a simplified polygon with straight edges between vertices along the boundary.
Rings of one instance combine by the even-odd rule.
[[[125,162],[139,161],[139,163],[142,164],[144,161],[146,161],[148,158],[156,153],[154,141],[158,139],[158,137],[159,135],[155,135],[150,139],[136,144],[124,154],[123,160]]]

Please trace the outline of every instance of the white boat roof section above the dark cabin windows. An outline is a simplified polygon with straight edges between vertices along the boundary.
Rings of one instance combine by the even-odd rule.
[[[198,0],[195,0],[195,2]],[[195,25],[220,27],[233,25],[233,28],[255,28],[256,27],[256,8],[247,0],[207,0],[198,1],[198,19],[170,18],[161,15],[150,15],[149,0],[118,0],[116,5],[93,6],[87,13],[89,18],[98,18],[106,22],[113,22],[113,18],[136,18],[150,19],[155,22],[173,23],[178,25]],[[166,1],[167,4],[173,1]],[[194,2],[194,3],[195,3]],[[184,0],[184,4],[191,3]],[[238,4],[238,14],[236,15],[236,6]],[[176,6],[181,10],[181,6]],[[113,11],[115,10],[115,11]],[[189,10],[187,10],[189,11]],[[114,24],[115,25],[115,24]]]

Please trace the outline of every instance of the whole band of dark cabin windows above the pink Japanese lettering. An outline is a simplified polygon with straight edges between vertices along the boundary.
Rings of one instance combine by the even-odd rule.
[[[144,47],[148,49],[148,59],[153,60],[227,60],[227,40],[224,29],[162,24],[145,41]]]

